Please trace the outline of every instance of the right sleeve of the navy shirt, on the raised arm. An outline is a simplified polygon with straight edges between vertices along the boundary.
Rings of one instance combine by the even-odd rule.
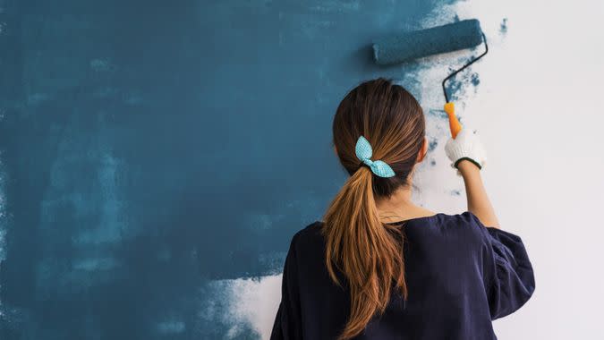
[[[504,230],[474,222],[483,236],[483,279],[492,320],[518,310],[535,290],[532,264],[522,239]]]

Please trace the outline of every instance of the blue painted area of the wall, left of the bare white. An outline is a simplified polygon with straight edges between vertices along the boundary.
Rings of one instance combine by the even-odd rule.
[[[339,100],[404,78],[370,41],[441,3],[0,0],[0,338],[223,338],[208,283],[280,271]]]

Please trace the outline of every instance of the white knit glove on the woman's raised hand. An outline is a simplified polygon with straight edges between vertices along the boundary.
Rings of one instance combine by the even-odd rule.
[[[450,138],[445,145],[445,153],[451,160],[451,167],[457,168],[457,164],[463,159],[468,159],[473,164],[481,169],[486,160],[487,153],[482,147],[481,140],[476,130],[470,130],[464,127],[462,131],[457,133],[455,140]],[[457,174],[461,175],[459,170]]]

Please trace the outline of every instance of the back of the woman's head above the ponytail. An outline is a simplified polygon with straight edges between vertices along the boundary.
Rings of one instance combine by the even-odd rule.
[[[379,78],[365,81],[345,96],[333,123],[336,154],[348,174],[361,166],[354,153],[359,136],[369,140],[372,159],[386,162],[396,176],[374,175],[376,195],[390,196],[407,184],[413,166],[425,155],[426,124],[420,104],[400,85]],[[369,170],[369,169],[368,169]]]

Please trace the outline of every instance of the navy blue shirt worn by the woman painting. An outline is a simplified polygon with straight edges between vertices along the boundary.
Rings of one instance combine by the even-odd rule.
[[[393,293],[355,339],[497,339],[491,320],[523,306],[535,289],[520,237],[485,227],[471,212],[413,218],[404,231],[408,299]],[[325,267],[322,222],[293,235],[271,339],[335,339],[350,312],[345,277]]]

